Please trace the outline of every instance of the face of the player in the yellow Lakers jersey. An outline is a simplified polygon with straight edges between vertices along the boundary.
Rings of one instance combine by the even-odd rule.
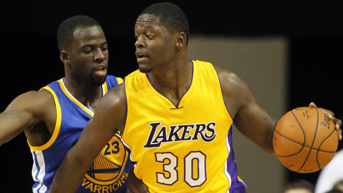
[[[136,57],[141,72],[163,70],[176,54],[177,36],[153,15],[140,15],[134,25]]]

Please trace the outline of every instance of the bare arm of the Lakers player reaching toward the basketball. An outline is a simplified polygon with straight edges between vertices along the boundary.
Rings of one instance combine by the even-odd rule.
[[[275,120],[255,100],[247,83],[233,72],[215,67],[225,105],[240,133],[269,154],[274,154]]]

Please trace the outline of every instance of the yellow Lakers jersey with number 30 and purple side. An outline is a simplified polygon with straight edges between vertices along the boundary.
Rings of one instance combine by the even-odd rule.
[[[125,79],[122,141],[150,192],[245,192],[232,150],[232,118],[212,64],[191,60],[192,81],[175,106],[145,73]]]

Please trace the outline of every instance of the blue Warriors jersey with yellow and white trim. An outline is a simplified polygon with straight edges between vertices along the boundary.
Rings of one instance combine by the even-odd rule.
[[[122,83],[121,78],[108,75],[102,85],[103,95]],[[56,106],[56,125],[50,140],[38,147],[29,144],[33,156],[32,177],[34,193],[47,193],[55,173],[68,150],[79,139],[93,112],[76,100],[64,85],[63,78],[42,88],[51,92]],[[85,174],[78,193],[126,192],[126,179],[130,169],[128,151],[117,133],[106,144],[91,168]]]

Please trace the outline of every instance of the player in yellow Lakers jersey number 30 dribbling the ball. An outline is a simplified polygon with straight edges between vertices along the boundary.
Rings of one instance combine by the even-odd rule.
[[[50,192],[75,191],[117,130],[123,132],[122,141],[137,162],[134,176],[149,192],[245,192],[237,176],[232,124],[273,154],[276,121],[235,73],[188,60],[188,22],[176,5],[157,3],[146,8],[134,31],[139,71],[99,102],[61,163]],[[323,111],[329,113],[341,139],[341,121]],[[135,184],[128,183],[128,192],[145,192]]]

